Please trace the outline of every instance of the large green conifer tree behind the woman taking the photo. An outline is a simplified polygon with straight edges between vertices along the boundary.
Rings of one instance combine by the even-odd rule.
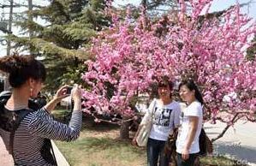
[[[33,35],[32,38],[12,36],[15,48],[44,56],[47,90],[70,83],[68,80],[80,81],[80,72],[86,69],[82,64],[90,57],[86,50],[92,37],[110,24],[104,15],[105,7],[104,0],[53,0],[46,7],[27,11],[33,20],[25,15],[25,21],[18,23],[21,33],[33,32]],[[38,19],[45,21],[44,25]]]

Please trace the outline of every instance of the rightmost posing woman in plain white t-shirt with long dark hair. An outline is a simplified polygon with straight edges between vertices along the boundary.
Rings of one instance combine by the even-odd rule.
[[[182,110],[181,123],[176,140],[178,166],[193,166],[199,153],[199,134],[203,121],[203,98],[193,80],[184,80],[179,86],[182,100],[188,107]]]

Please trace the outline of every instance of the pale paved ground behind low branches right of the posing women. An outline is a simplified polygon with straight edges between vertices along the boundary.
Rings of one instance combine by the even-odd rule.
[[[221,133],[225,124],[205,123],[205,132],[210,138],[215,138]],[[234,128],[229,130],[222,138],[217,139],[215,144],[215,153],[235,158],[241,163],[256,166],[256,123],[239,121],[235,123]]]

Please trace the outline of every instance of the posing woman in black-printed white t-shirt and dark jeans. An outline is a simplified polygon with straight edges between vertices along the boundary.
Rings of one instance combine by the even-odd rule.
[[[170,157],[164,157],[164,144],[168,134],[174,126],[180,123],[181,107],[172,98],[173,83],[168,80],[162,80],[158,83],[159,99],[154,99],[149,108],[153,108],[152,129],[147,141],[147,166],[157,166],[158,157],[160,166],[168,166]],[[151,114],[148,109],[142,122],[146,122]],[[141,125],[134,136],[133,144],[137,145],[136,138],[140,133]]]

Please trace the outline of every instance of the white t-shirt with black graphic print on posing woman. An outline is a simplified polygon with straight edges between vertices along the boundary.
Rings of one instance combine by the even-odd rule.
[[[154,108],[152,109],[152,107]],[[153,100],[142,122],[146,121],[151,110],[154,116],[149,138],[166,141],[170,130],[173,129],[173,124],[175,126],[180,124],[181,106],[175,100],[167,105],[161,104],[159,99]]]

